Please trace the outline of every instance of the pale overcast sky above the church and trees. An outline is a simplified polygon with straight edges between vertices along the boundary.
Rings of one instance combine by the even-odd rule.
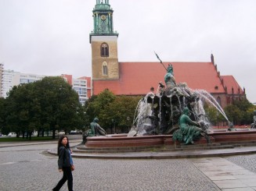
[[[0,0],[0,63],[46,76],[91,76],[96,0]],[[110,0],[119,62],[210,62],[256,102],[255,0]],[[174,69],[175,70],[175,69]],[[156,82],[157,83],[157,82]]]

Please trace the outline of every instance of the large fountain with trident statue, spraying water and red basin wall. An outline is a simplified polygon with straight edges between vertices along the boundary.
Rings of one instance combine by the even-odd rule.
[[[161,61],[160,63],[163,65]],[[228,122],[229,129],[233,129],[233,124],[229,122],[218,101],[206,90],[191,90],[186,83],[176,83],[171,64],[168,65],[168,68],[164,66],[164,69],[167,71],[164,76],[165,85],[161,82],[158,83],[156,94],[151,87],[150,92],[139,101],[135,110],[133,126],[128,134],[88,137],[85,146],[99,148],[175,145],[176,147],[176,145],[184,143],[184,140],[189,140],[186,143],[196,141],[196,144],[206,145],[256,140],[254,129],[226,130],[225,132],[213,130],[204,111],[204,103],[215,107]],[[185,113],[187,116],[181,117]],[[186,133],[181,128],[181,118],[183,118],[183,122],[193,124],[185,124]],[[189,133],[187,129],[189,129]],[[196,137],[195,135],[199,140],[191,138]]]

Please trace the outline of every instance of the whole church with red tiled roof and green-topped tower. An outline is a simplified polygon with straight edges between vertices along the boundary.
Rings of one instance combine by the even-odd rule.
[[[96,0],[92,10],[94,30],[90,34],[92,46],[92,94],[109,89],[117,95],[145,95],[150,87],[157,90],[164,82],[166,70],[159,62],[119,62],[117,54],[118,34],[113,27],[113,9],[109,0]],[[177,83],[207,90],[222,107],[235,100],[246,98],[233,76],[221,76],[214,56],[210,62],[164,62],[173,65]]]

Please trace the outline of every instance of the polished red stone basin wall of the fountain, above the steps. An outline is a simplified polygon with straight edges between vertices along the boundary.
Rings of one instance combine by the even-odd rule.
[[[256,129],[234,129],[213,130],[208,133],[211,143],[239,143],[256,141]],[[196,145],[207,145],[207,140],[202,137],[194,142]],[[113,134],[107,136],[88,137],[85,147],[88,148],[111,148],[111,147],[155,147],[155,146],[176,146],[181,145],[178,141],[172,140],[172,135],[156,136],[132,136],[127,134]]]

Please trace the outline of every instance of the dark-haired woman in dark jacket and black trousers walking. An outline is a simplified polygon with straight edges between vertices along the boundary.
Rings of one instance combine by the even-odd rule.
[[[53,191],[58,191],[66,181],[68,190],[73,191],[72,171],[74,170],[74,165],[71,153],[72,150],[70,150],[70,143],[68,141],[67,136],[60,136],[58,141],[58,166],[59,172],[63,172],[63,178],[60,179],[57,186],[54,189],[52,189]]]

